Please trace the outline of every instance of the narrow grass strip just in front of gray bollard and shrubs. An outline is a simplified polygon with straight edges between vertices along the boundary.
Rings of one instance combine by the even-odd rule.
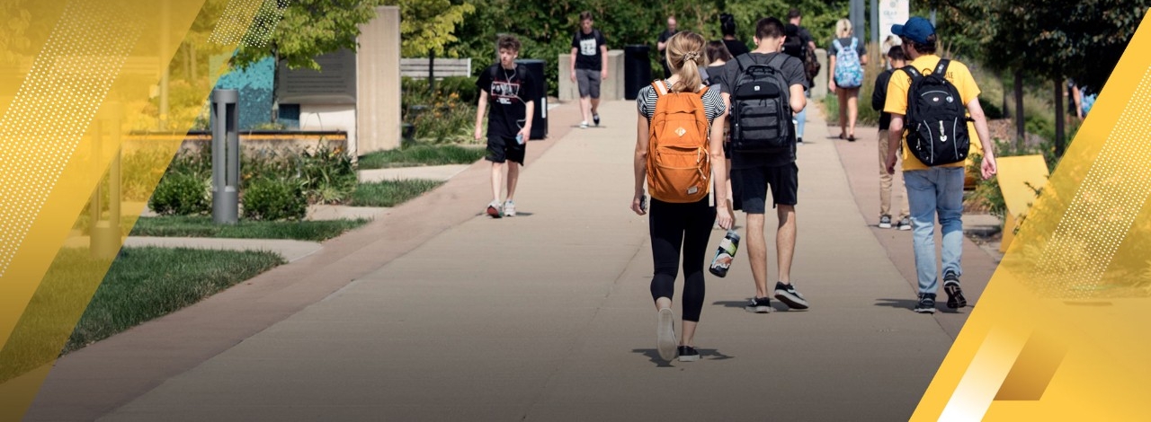
[[[238,239],[295,239],[321,241],[367,224],[369,220],[247,221],[216,225],[211,216],[140,217],[131,236],[220,237]]]

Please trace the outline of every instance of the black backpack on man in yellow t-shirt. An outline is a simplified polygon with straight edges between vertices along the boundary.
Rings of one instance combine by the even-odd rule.
[[[939,60],[931,75],[914,67],[902,71],[912,77],[907,90],[907,147],[927,166],[943,166],[967,160],[970,137],[967,133],[967,106],[959,90],[947,80],[950,60]]]

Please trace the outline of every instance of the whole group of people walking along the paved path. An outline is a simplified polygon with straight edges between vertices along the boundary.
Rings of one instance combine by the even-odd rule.
[[[708,239],[714,224],[723,229],[734,225],[735,210],[745,214],[744,239],[754,284],[754,294],[745,309],[769,313],[771,299],[790,309],[810,306],[796,290],[791,274],[799,202],[795,153],[802,138],[808,91],[818,74],[818,64],[813,66],[814,60],[809,59],[815,43],[799,25],[800,18],[799,10],[792,10],[790,24],[775,17],[759,20],[753,39],[755,48],[750,51],[735,39],[734,20],[726,14],[721,16],[722,40],[708,43],[699,33],[678,31],[674,18],[669,18],[669,30],[660,36],[665,77],[641,89],[637,98],[631,209],[648,216],[656,345],[665,360],[700,359],[694,335],[703,307]],[[580,23],[572,40],[570,77],[580,84],[581,126],[587,126],[589,116],[592,124],[600,122],[597,83],[607,77],[607,47],[603,34],[592,26],[590,14],[582,14]],[[974,122],[982,143],[982,176],[996,174],[986,120],[978,102],[980,90],[966,66],[936,55],[937,34],[927,20],[913,17],[902,25],[893,25],[892,33],[900,37],[901,44],[887,52],[893,69],[878,77],[872,98],[872,106],[884,112],[879,132],[883,205],[878,224],[893,227],[891,175],[901,156],[909,204],[902,206],[895,227],[913,230],[918,278],[918,300],[913,310],[936,310],[939,290],[936,216],[943,232],[943,290],[947,307],[961,308],[967,305],[960,287],[963,236],[960,218],[963,160],[970,139],[968,121]],[[846,20],[837,28],[837,36],[832,43],[834,56],[828,72],[829,86],[839,95],[840,105],[852,103],[862,84],[866,51],[862,43],[851,37]],[[475,138],[482,139],[479,123],[487,103],[494,102],[487,131],[494,197],[487,213],[493,217],[514,215],[512,197],[518,167],[524,160],[523,140],[527,139],[532,122],[533,102],[525,99],[535,98],[535,93],[528,92],[531,76],[514,64],[519,43],[504,37],[498,49],[500,62],[478,82],[481,93],[475,131]],[[854,140],[854,120],[851,121],[851,125],[841,124],[840,138]],[[508,197],[501,202],[500,175],[505,161],[512,163],[508,169]],[[778,263],[770,289],[764,235],[769,205],[777,216]],[[677,335],[672,298],[680,269],[683,312]]]

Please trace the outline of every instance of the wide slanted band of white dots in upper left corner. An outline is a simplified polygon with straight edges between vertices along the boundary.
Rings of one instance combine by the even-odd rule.
[[[139,38],[134,13],[69,1],[0,117],[0,276]]]

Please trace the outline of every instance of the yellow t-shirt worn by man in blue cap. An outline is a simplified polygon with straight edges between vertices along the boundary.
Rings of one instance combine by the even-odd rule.
[[[921,55],[918,59],[912,62],[915,69],[918,69],[921,74],[931,75],[935,67],[939,64],[939,56],[935,54]],[[963,101],[963,105],[971,102],[980,98],[980,86],[975,84],[975,78],[971,77],[971,71],[967,69],[967,66],[958,61],[952,60],[951,64],[947,66],[947,75],[945,76],[947,82],[955,85],[955,90],[959,91],[959,98]],[[892,114],[907,115],[907,90],[912,85],[912,78],[907,76],[907,72],[902,70],[895,70],[891,75],[891,80],[887,82],[887,100],[884,102],[883,110]],[[907,122],[904,121],[906,126]],[[967,123],[967,133],[971,139],[970,152],[981,152],[983,148],[980,145],[980,136],[975,133],[975,125],[970,122]],[[907,141],[907,132],[904,132],[904,141]],[[904,149],[904,171],[907,170],[925,170],[928,166],[915,158],[912,154],[910,148]],[[970,156],[970,154],[968,154]],[[968,159],[970,161],[970,159]],[[956,162],[951,164],[944,164],[939,167],[965,167],[969,162]]]

